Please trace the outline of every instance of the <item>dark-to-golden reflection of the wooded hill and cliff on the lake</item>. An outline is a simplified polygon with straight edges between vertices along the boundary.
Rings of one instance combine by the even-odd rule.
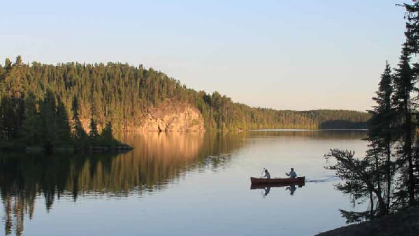
[[[126,154],[0,156],[0,191],[5,235],[21,235],[36,198],[49,212],[55,199],[71,196],[123,197],[158,191],[189,170],[218,168],[242,146],[244,134],[199,132],[129,133],[120,139],[134,147]],[[212,156],[213,158],[208,158]],[[215,157],[215,158],[214,158]]]

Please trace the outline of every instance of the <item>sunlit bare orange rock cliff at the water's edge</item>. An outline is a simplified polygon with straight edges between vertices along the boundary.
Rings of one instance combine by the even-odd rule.
[[[166,100],[157,108],[152,108],[140,126],[142,131],[203,131],[201,112],[190,104]]]

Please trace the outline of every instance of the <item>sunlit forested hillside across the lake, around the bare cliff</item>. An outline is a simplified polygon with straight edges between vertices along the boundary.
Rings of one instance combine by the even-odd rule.
[[[25,119],[42,110],[40,101],[52,92],[55,104],[63,104],[73,117],[74,97],[80,119],[94,119],[99,128],[108,122],[116,130],[138,126],[150,108],[165,99],[186,102],[198,108],[207,130],[254,128],[365,128],[368,113],[348,110],[272,110],[251,108],[214,92],[194,91],[168,75],[129,64],[25,64],[0,65],[1,139],[18,136]],[[51,96],[51,95],[49,95]],[[296,96],[299,96],[296,94]]]

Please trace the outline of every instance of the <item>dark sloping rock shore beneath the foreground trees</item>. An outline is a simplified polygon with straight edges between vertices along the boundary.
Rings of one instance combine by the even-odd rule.
[[[419,206],[376,220],[335,228],[316,236],[416,236],[419,235]]]

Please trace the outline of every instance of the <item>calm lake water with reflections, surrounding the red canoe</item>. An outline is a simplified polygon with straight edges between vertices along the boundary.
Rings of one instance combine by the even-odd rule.
[[[127,154],[0,154],[0,235],[314,235],[344,226],[338,209],[352,209],[323,154],[363,155],[365,136],[129,133]],[[272,177],[294,167],[305,186],[251,189],[263,167]]]

